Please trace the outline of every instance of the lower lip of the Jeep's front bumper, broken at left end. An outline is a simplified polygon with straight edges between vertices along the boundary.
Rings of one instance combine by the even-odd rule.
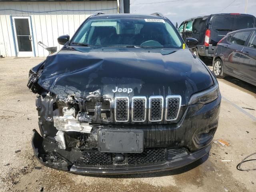
[[[54,152],[53,154],[58,156],[58,162],[50,162],[45,161],[44,156],[49,152],[49,150],[55,150],[58,147],[58,144],[44,141],[45,139],[38,134],[36,130],[33,130],[33,138],[32,138],[32,148],[34,150],[35,157],[45,166],[50,168],[54,168],[57,170],[64,170],[69,172],[74,172],[78,174],[133,174],[133,173],[143,173],[143,172],[156,172],[156,171],[164,171],[164,170],[172,170],[176,168],[180,168],[186,166],[200,158],[204,155],[208,154],[211,145],[196,151],[187,154],[186,156],[176,158],[174,160],[166,160],[164,162],[153,163],[153,164],[143,164],[143,165],[133,165],[133,166],[80,166],[79,164],[72,163],[69,158],[79,158],[79,152],[66,152],[66,156],[64,157],[64,150],[62,154],[58,152]],[[51,146],[51,147],[50,147]]]

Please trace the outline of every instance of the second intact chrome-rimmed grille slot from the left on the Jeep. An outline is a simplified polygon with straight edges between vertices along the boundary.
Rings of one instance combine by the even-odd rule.
[[[146,121],[147,99],[144,96],[137,96],[132,98],[132,121],[145,122]]]

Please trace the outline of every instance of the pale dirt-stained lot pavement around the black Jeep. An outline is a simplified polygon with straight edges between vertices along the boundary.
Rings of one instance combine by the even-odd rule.
[[[189,166],[118,176],[81,176],[42,166],[31,148],[32,129],[38,130],[36,95],[26,83],[28,70],[43,59],[0,59],[0,192],[256,191],[256,171],[236,169],[244,157],[256,152],[256,87],[232,77],[218,80],[222,106],[214,137],[231,146],[213,143],[209,156]],[[246,162],[244,167],[256,168],[256,163]]]

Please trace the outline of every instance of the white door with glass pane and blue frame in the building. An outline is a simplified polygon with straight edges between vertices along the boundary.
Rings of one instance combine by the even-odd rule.
[[[30,16],[12,16],[18,57],[34,56]]]

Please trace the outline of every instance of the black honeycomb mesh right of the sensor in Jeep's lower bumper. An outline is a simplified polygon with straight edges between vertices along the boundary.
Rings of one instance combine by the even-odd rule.
[[[166,160],[165,148],[144,149],[142,153],[128,153],[128,165],[158,163]]]

